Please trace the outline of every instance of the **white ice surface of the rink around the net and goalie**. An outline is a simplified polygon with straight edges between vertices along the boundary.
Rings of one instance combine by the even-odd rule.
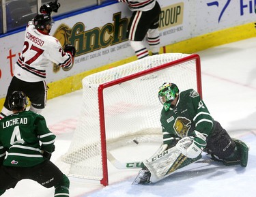
[[[177,172],[153,185],[131,185],[139,170],[116,170],[109,164],[109,186],[70,179],[70,196],[173,196],[173,197],[255,197],[256,190],[256,38],[225,44],[197,52],[201,57],[203,100],[214,119],[232,137],[250,147],[248,166],[223,166],[212,163],[204,168]],[[42,115],[57,134],[55,162],[66,153],[76,127],[81,106],[81,91],[53,100]],[[151,151],[141,151],[152,154]],[[1,179],[1,177],[0,177]],[[4,181],[1,179],[1,181]],[[45,189],[29,180],[20,181],[4,197],[48,197],[54,189]]]

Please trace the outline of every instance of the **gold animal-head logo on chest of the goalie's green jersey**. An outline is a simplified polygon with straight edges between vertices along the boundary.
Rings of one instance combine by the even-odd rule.
[[[191,127],[190,124],[191,121],[189,119],[186,119],[185,117],[177,117],[177,119],[175,119],[173,129],[178,136],[184,138],[188,135],[188,131]]]

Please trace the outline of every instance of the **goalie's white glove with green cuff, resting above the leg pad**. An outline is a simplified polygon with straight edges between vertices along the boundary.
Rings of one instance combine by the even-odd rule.
[[[203,149],[206,147],[205,134],[194,131],[193,136],[187,136],[180,139],[175,147],[179,149],[181,153],[186,157],[196,158],[203,152]]]

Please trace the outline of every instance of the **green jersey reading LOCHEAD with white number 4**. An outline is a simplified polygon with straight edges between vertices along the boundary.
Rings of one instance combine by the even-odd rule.
[[[44,117],[35,112],[18,112],[1,119],[0,165],[31,167],[44,162],[42,150],[51,153],[55,137]]]

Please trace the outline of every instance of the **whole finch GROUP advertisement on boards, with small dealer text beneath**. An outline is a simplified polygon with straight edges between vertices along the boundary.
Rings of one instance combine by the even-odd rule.
[[[122,18],[122,12],[117,12],[113,13],[111,20],[112,22],[93,29],[87,29],[87,24],[84,22],[87,20],[83,20],[83,18],[72,27],[63,22],[55,30],[53,37],[59,40],[61,46],[72,44],[76,48],[74,63],[100,58],[110,52],[130,47],[127,37],[130,17]],[[161,32],[162,35],[183,31],[183,20],[184,3],[162,7],[159,19],[159,29],[164,29],[164,32]],[[65,70],[64,67],[53,65],[53,72],[59,72],[61,69]]]

